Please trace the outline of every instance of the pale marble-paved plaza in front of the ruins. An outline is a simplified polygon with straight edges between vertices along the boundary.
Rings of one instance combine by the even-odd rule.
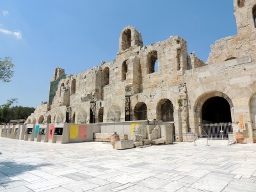
[[[256,191],[256,144],[115,150],[0,138],[0,191]]]

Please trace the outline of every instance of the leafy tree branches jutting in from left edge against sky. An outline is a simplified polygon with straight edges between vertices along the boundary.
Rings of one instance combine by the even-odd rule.
[[[0,81],[11,81],[11,77],[14,74],[14,71],[12,70],[13,67],[14,63],[12,62],[12,58],[5,57],[4,61],[2,61],[2,58],[0,58]]]

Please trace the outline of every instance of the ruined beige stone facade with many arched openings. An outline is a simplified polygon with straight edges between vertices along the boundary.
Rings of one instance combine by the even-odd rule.
[[[69,76],[56,68],[48,104],[27,123],[160,120],[174,122],[175,134],[202,134],[204,122],[237,125],[243,115],[246,142],[256,142],[255,5],[234,0],[238,33],[216,41],[207,63],[180,36],[143,45],[127,26],[115,60]]]

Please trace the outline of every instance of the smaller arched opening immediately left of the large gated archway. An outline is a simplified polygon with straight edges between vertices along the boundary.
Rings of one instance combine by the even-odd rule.
[[[169,99],[161,99],[157,104],[157,120],[162,120],[163,122],[173,122],[173,104]]]

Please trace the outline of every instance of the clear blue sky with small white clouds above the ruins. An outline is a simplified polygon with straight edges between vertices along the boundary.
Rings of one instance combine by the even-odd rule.
[[[1,0],[0,58],[12,57],[15,75],[0,82],[0,105],[17,98],[36,107],[47,101],[56,67],[77,74],[115,60],[128,25],[144,45],[179,35],[207,61],[211,44],[236,35],[233,13],[233,0]]]

